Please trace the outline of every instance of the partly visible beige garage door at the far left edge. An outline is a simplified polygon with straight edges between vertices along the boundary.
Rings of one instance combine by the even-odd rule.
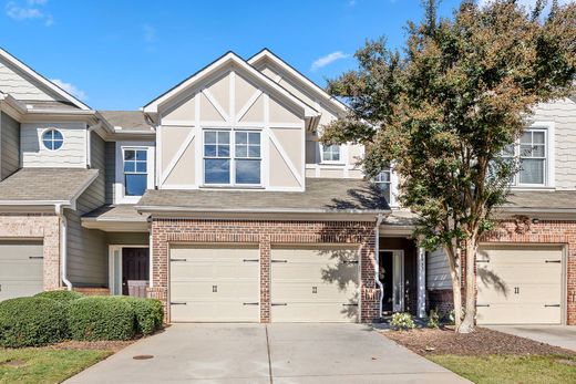
[[[0,301],[42,291],[41,242],[0,241]]]

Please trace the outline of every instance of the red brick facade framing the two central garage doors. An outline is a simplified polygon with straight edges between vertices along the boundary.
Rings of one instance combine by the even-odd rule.
[[[168,300],[168,246],[177,243],[253,243],[260,252],[260,322],[270,321],[270,249],[274,245],[357,243],[360,247],[360,319],[378,318],[380,292],[374,281],[374,230],[360,221],[276,221],[161,219],[152,221],[152,278],[148,295]],[[165,307],[169,321],[169,308]]]

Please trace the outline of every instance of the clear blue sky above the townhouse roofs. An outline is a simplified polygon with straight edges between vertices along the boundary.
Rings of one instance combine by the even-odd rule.
[[[448,14],[459,0],[444,0]],[[399,44],[420,0],[0,0],[0,45],[99,110],[134,110],[233,50],[323,86],[366,39]],[[316,63],[316,64],[315,64]]]

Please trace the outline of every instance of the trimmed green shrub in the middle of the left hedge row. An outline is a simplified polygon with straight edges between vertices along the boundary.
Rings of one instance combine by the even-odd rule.
[[[69,329],[73,340],[130,340],[135,314],[127,301],[114,297],[86,297],[70,302]]]

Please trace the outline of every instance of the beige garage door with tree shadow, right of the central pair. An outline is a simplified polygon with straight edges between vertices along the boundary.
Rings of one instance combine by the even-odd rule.
[[[271,321],[358,321],[358,248],[272,248]]]

